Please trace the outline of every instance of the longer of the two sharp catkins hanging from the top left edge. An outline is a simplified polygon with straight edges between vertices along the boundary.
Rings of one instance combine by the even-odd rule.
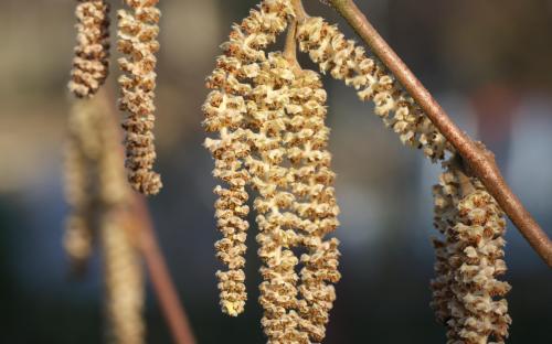
[[[120,86],[119,108],[126,111],[123,122],[126,131],[126,162],[130,185],[146,195],[157,194],[161,178],[153,172],[156,149],[153,144],[156,88],[156,52],[159,50],[159,0],[125,0],[131,11],[119,10],[117,49],[125,55],[118,63],[124,75]]]

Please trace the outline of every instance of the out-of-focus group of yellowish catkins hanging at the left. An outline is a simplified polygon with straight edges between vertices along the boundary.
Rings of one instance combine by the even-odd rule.
[[[64,246],[82,270],[98,238],[104,252],[109,343],[142,343],[144,283],[129,237],[131,193],[123,169],[120,135],[105,93],[78,100],[70,117],[67,216]]]

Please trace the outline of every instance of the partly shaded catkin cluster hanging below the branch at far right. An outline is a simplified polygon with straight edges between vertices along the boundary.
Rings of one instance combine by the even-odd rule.
[[[437,319],[448,327],[447,343],[503,343],[508,336],[509,290],[498,276],[503,258],[503,213],[477,179],[454,164],[434,187],[437,256],[432,281]]]

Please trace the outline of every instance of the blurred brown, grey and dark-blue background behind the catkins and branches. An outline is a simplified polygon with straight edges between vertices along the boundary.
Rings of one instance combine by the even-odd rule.
[[[102,269],[67,277],[62,147],[71,97],[74,2],[0,1],[0,342],[100,343]],[[113,1],[117,9],[121,1]],[[305,0],[349,30],[332,11]],[[484,140],[552,235],[552,1],[357,1],[458,125]],[[166,0],[160,8],[158,169],[149,205],[199,343],[264,343],[251,229],[250,302],[221,314],[214,271],[213,162],[203,149],[205,75],[232,22],[256,0]],[[115,14],[113,11],[112,15]],[[115,18],[113,15],[113,18]],[[117,56],[115,54],[114,58]],[[314,67],[301,58],[306,67]],[[115,63],[109,83],[119,72]],[[338,173],[342,280],[325,343],[444,343],[428,307],[431,186],[439,169],[401,146],[354,92],[326,78]],[[253,217],[251,218],[253,219]],[[509,343],[552,343],[552,276],[509,225]],[[148,343],[170,335],[148,287]]]

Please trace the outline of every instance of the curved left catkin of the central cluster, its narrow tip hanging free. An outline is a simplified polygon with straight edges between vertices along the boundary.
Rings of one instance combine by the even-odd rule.
[[[265,0],[256,10],[251,10],[240,25],[235,24],[230,41],[221,47],[216,68],[208,77],[206,86],[213,89],[203,105],[208,132],[216,132],[208,138],[205,147],[215,160],[213,174],[225,185],[214,192],[216,226],[223,238],[215,244],[216,256],[227,267],[217,271],[222,311],[230,315],[243,312],[247,294],[245,291],[245,239],[248,223],[245,186],[251,175],[244,166],[244,158],[250,154],[248,114],[254,103],[251,78],[259,73],[258,63],[266,60],[263,51],[276,41],[276,35],[287,26],[287,17],[293,14],[288,1]]]

